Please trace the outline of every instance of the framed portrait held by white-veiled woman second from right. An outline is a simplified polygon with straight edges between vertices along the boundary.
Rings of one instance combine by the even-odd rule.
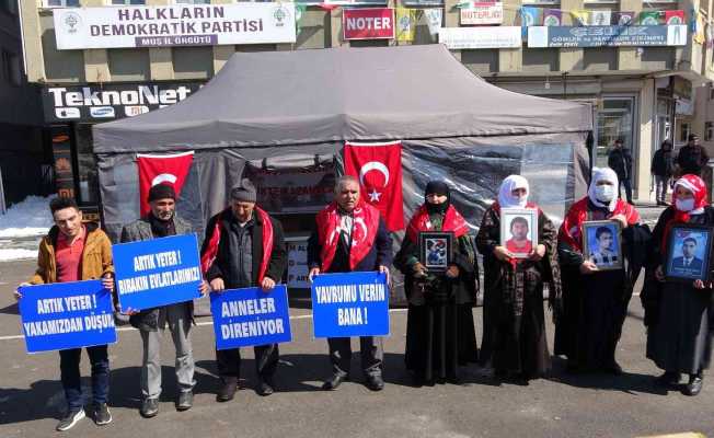
[[[622,269],[622,227],[613,220],[583,222],[583,256],[600,270]]]

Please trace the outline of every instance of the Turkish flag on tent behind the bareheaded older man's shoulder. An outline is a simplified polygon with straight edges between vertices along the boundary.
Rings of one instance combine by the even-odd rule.
[[[359,180],[362,198],[379,209],[390,231],[403,230],[402,142],[346,142],[344,155],[345,174]]]

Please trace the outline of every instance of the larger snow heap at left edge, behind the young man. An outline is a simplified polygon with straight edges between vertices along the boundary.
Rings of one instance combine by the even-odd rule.
[[[47,233],[53,226],[50,197],[27,196],[0,216],[0,238],[28,238]],[[35,254],[37,255],[37,254]]]

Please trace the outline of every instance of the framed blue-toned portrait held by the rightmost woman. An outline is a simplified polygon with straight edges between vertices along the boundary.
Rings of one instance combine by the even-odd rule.
[[[704,226],[679,224],[671,228],[665,260],[667,279],[688,283],[710,279],[712,233],[712,228]]]

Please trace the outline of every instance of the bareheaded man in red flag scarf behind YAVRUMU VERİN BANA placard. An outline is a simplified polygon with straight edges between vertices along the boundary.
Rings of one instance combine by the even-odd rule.
[[[318,214],[308,241],[310,279],[321,273],[389,274],[391,263],[392,238],[379,210],[361,199],[354,176],[342,176],[335,185],[335,200]],[[322,389],[330,391],[348,379],[352,347],[349,337],[330,337],[327,344],[333,373]],[[384,388],[382,339],[361,336],[359,346],[367,388],[380,391]]]

